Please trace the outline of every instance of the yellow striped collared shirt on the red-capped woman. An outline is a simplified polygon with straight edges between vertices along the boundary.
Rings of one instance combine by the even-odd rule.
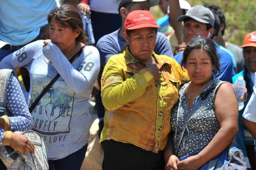
[[[128,49],[110,57],[101,79],[106,108],[101,141],[113,139],[152,152],[164,150],[171,131],[171,109],[178,100],[178,89],[189,77],[173,58],[153,55],[162,72],[157,81]]]

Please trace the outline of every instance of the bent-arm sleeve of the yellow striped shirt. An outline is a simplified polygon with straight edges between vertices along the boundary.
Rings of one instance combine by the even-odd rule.
[[[104,107],[116,110],[119,107],[141,97],[146,87],[155,83],[154,76],[146,69],[135,73],[125,80],[125,71],[121,63],[108,61],[101,78],[101,98]]]

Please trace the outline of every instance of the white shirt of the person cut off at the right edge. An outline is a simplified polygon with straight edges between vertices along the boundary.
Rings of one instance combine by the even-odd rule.
[[[256,73],[254,80],[256,80]],[[254,82],[253,93],[245,108],[243,117],[252,122],[256,122],[256,82]]]

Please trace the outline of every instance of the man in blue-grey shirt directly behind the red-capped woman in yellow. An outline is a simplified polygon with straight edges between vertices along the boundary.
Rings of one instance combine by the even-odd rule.
[[[124,51],[124,23],[128,13],[134,10],[149,10],[150,7],[155,6],[158,3],[159,0],[119,0],[119,13],[122,18],[122,27],[114,31],[113,33],[101,37],[97,43],[97,49],[99,50],[101,57],[101,71],[99,74],[99,80],[101,80],[101,73],[103,72],[104,66],[108,62],[109,58],[114,54],[123,53]],[[155,54],[162,54],[173,57],[171,45],[167,37],[163,33],[158,32],[156,35],[154,52]],[[103,129],[103,117],[105,113],[105,108],[101,102],[100,92],[95,97],[95,100],[97,106],[97,115],[100,118],[99,131],[101,133],[101,130]]]

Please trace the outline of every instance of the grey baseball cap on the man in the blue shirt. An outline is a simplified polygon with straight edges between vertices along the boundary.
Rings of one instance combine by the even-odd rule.
[[[214,27],[214,15],[210,11],[210,9],[202,6],[197,5],[192,7],[187,11],[185,15],[180,16],[177,21],[181,22],[184,21],[185,18],[191,18],[197,22],[204,23],[204,24],[210,24],[212,27]]]

